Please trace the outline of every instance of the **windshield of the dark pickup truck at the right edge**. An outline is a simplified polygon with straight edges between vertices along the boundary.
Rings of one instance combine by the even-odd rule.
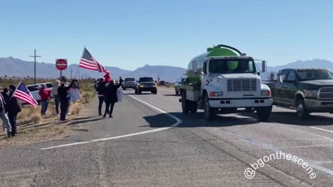
[[[297,71],[300,81],[306,80],[333,80],[333,72],[330,69],[302,69]]]

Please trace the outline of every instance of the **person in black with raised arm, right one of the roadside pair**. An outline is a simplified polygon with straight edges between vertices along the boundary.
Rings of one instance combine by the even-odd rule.
[[[118,102],[117,90],[119,89],[119,87],[121,87],[122,82],[123,82],[123,80],[121,78],[119,78],[119,84],[114,84],[114,80],[111,80],[111,82],[105,88],[105,98],[104,98],[104,100],[105,100],[105,103],[106,103],[106,107],[105,107],[105,113],[103,115],[103,118],[105,118],[108,111],[110,112],[109,117],[112,118],[114,103]],[[110,110],[108,110],[109,107],[110,107]]]

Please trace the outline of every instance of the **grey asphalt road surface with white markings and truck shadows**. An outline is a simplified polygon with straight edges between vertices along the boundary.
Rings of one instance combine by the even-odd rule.
[[[85,133],[1,148],[0,186],[333,186],[332,114],[300,121],[274,107],[268,123],[206,122],[182,114],[172,90],[125,92],[114,118],[87,106],[74,122]]]

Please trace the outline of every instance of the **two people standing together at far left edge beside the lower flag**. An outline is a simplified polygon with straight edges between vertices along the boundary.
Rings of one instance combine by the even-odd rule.
[[[9,89],[4,88],[0,94],[0,118],[3,123],[3,131],[7,132],[8,138],[17,136],[16,118],[22,112],[22,105],[17,98],[12,97],[16,87],[10,85]]]

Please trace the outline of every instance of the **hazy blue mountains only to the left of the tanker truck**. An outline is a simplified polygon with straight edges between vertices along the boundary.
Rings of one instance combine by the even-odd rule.
[[[78,64],[71,64],[67,66],[65,71],[62,71],[62,75],[67,78],[74,78]],[[173,66],[149,66],[145,65],[139,67],[134,71],[129,71],[125,69],[119,69],[117,67],[106,66],[112,78],[119,79],[133,77],[139,78],[142,76],[150,76],[157,80],[160,76],[160,80],[167,82],[175,82],[180,75],[184,75],[186,69]],[[72,71],[72,73],[71,73]],[[24,61],[14,57],[0,57],[0,77],[7,75],[12,78],[13,76],[17,78],[25,78],[27,76],[33,77],[34,63],[31,61]],[[99,73],[98,71],[91,71],[88,69],[78,69],[78,74],[80,78],[91,77],[91,78],[101,78],[104,73]],[[36,77],[37,78],[58,78],[60,75],[59,71],[56,69],[56,65],[53,63],[36,62]],[[78,75],[76,76],[78,78]]]

